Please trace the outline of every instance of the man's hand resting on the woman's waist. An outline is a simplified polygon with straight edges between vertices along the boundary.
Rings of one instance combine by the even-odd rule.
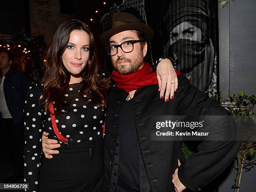
[[[53,158],[52,154],[59,154],[58,150],[53,150],[53,149],[59,148],[60,144],[55,139],[49,139],[48,136],[49,136],[49,133],[46,133],[44,131],[42,136],[42,147],[43,147],[44,156],[47,159],[52,159]]]

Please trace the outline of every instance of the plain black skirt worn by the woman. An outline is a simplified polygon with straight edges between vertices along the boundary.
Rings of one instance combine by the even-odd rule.
[[[104,172],[103,140],[64,144],[52,159],[43,157],[39,192],[100,192]]]

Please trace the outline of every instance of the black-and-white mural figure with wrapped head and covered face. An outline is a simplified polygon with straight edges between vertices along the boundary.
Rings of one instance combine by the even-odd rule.
[[[166,11],[164,55],[195,87],[212,96],[217,91],[215,50],[206,0],[172,0]]]

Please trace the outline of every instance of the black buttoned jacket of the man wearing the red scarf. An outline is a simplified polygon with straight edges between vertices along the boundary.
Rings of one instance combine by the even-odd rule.
[[[151,118],[154,115],[228,115],[227,110],[189,84],[186,77],[180,75],[178,80],[179,89],[174,99],[167,103],[159,98],[158,85],[137,90],[132,101],[138,141],[152,192],[174,192],[172,174],[178,167],[180,141],[151,141],[151,132],[156,129]],[[119,113],[127,96],[123,90],[113,87],[107,98],[105,191],[113,192],[116,187],[113,181],[116,177],[115,166],[118,166],[115,156],[118,155]],[[214,127],[223,129],[221,123],[216,123]],[[201,142],[199,152],[179,166],[180,181],[192,191],[201,190],[234,160],[240,144],[240,141]]]

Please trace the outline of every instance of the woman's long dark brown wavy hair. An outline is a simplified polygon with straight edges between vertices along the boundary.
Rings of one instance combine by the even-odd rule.
[[[92,99],[97,107],[105,108],[102,97],[106,96],[110,84],[109,79],[100,80],[97,76],[99,63],[92,31],[86,23],[77,19],[69,19],[62,22],[56,29],[47,51],[47,61],[44,66],[45,74],[42,79],[44,90],[40,103],[44,105],[48,115],[50,114],[49,104],[51,102],[56,108],[55,113],[66,113],[69,110],[70,101],[64,95],[69,86],[70,74],[64,67],[61,56],[67,48],[70,33],[73,30],[85,31],[90,37],[90,54],[87,64],[81,72],[84,85],[79,91],[79,96],[83,100]],[[92,97],[84,97],[89,91]]]

